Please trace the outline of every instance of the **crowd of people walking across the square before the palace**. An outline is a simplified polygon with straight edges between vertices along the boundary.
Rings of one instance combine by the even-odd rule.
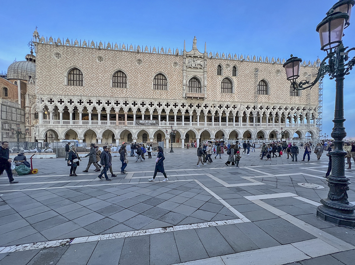
[[[126,174],[125,168],[127,167],[128,164],[128,155],[127,155],[127,150],[126,150],[127,143],[122,143],[121,147],[118,150],[118,153],[120,154],[120,161],[122,163],[121,165],[121,174]],[[328,171],[326,174],[326,177],[329,176],[331,172],[331,164],[332,164],[332,156],[330,152],[332,151],[333,148],[332,143],[317,143],[316,146],[313,147],[311,142],[307,142],[303,145],[304,149],[304,154],[303,154],[303,159],[301,161],[305,161],[307,157],[307,161],[310,161],[311,153],[312,151],[316,154],[317,160],[321,159],[322,154],[324,151],[328,151],[326,154],[329,157],[329,163],[328,163]],[[154,170],[154,175],[153,178],[148,179],[149,181],[153,182],[157,173],[160,172],[164,175],[165,179],[163,181],[168,181],[168,177],[165,173],[164,170],[164,152],[163,148],[158,146],[157,148],[154,148],[152,144],[147,144],[146,146],[144,144],[137,144],[135,142],[132,142],[130,144],[131,147],[131,157],[136,157],[135,163],[140,160],[141,162],[144,162],[145,157],[144,154],[148,153],[148,158],[152,158],[152,152],[153,149],[156,150],[157,152],[157,158],[155,159],[155,170]],[[243,150],[242,150],[243,149]],[[213,162],[212,155],[214,154],[214,158],[217,159],[219,156],[219,159],[222,159],[221,154],[223,153],[224,150],[226,150],[226,153],[228,155],[228,159],[225,162],[226,166],[229,166],[230,164],[235,167],[239,167],[239,161],[241,159],[241,155],[249,155],[251,152],[255,152],[255,143],[250,143],[250,141],[244,141],[242,144],[237,141],[235,144],[227,144],[225,145],[224,141],[223,142],[215,142],[212,143],[212,141],[207,141],[203,142],[197,147],[197,163],[196,167],[200,167],[200,162],[203,166],[206,164],[211,164]],[[70,146],[70,143],[68,142],[67,145],[65,146],[65,151],[66,151],[66,156],[65,160],[67,161],[67,166],[70,167],[70,174],[69,176],[77,176],[76,174],[76,169],[80,165],[81,157],[78,155],[76,152],[76,146]],[[260,152],[260,159],[263,159],[264,157],[267,158],[267,160],[271,160],[271,158],[274,157],[281,157],[284,153],[287,154],[287,158],[291,158],[292,161],[297,162],[297,155],[299,155],[299,147],[296,145],[296,143],[291,143],[291,142],[286,142],[286,141],[280,141],[280,142],[271,142],[269,144],[263,143],[261,146],[261,152]],[[346,164],[348,164],[347,169],[351,169],[351,158],[353,158],[353,161],[355,163],[355,145],[354,142],[345,142],[344,143],[344,151],[346,151]],[[89,168],[93,164],[95,167],[95,172],[100,172],[98,175],[99,179],[105,178],[107,181],[110,181],[110,179],[107,175],[107,172],[110,171],[111,173],[111,178],[116,177],[117,175],[114,174],[113,168],[112,168],[112,155],[111,155],[111,148],[107,145],[103,146],[103,151],[99,150],[99,147],[96,146],[95,144],[90,145],[90,151],[87,155],[84,157],[89,157],[87,167],[83,170],[83,172],[88,172]],[[83,158],[83,157],[82,157]],[[2,174],[4,170],[7,172],[7,175],[9,177],[9,182],[10,183],[18,183],[18,181],[15,181],[12,177],[12,171],[11,171],[11,159],[10,159],[10,152],[9,152],[9,143],[4,141],[1,143],[1,148],[0,148],[0,173]]]

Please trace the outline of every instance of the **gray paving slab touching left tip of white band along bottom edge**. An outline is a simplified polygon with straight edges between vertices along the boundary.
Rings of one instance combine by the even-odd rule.
[[[181,262],[209,257],[195,230],[182,230],[173,233]]]

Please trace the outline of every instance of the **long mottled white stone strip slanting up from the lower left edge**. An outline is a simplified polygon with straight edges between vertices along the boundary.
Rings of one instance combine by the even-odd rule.
[[[68,239],[52,240],[47,242],[13,245],[8,247],[1,247],[0,254],[10,253],[15,251],[24,251],[30,249],[52,248],[52,247],[69,245],[69,244],[78,244],[78,243],[100,241],[100,240],[107,240],[107,239],[136,237],[136,236],[143,236],[148,234],[158,234],[158,233],[174,232],[174,231],[197,229],[197,228],[204,228],[204,227],[212,227],[212,226],[233,225],[236,223],[243,223],[243,221],[241,219],[231,219],[231,220],[214,221],[214,222],[193,223],[191,225],[179,225],[179,226],[152,228],[152,229],[144,229],[144,230],[137,230],[137,231],[100,234],[100,235],[88,236],[88,237],[76,237],[74,239],[68,238]]]

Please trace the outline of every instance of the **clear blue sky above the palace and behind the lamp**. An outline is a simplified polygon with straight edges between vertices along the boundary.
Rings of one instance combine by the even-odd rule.
[[[35,27],[40,36],[182,49],[184,39],[225,54],[322,60],[316,26],[336,1],[4,1],[0,72],[24,60]],[[354,12],[353,12],[354,13]],[[355,46],[355,18],[344,45]],[[350,56],[354,56],[353,52]],[[344,82],[345,127],[355,139],[355,73]],[[317,88],[313,88],[317,89]],[[323,135],[333,128],[335,81],[324,78]]]

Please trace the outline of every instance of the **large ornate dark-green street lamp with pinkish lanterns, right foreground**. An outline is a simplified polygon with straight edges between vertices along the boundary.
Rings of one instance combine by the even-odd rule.
[[[336,223],[337,225],[355,227],[355,206],[348,201],[350,181],[345,177],[346,152],[343,150],[343,139],[346,136],[344,128],[344,76],[350,73],[355,65],[355,56],[349,60],[348,53],[355,48],[344,48],[342,37],[343,29],[350,25],[351,8],[354,0],[341,0],[328,12],[327,17],[318,24],[316,30],[320,34],[321,50],[327,52],[326,58],[320,64],[318,75],[313,82],[302,80],[296,84],[299,77],[299,65],[301,59],[293,57],[283,65],[286,69],[287,80],[290,80],[294,90],[312,88],[316,83],[328,74],[330,79],[335,78],[335,113],[334,128],[331,133],[334,139],[332,156],[332,172],[327,178],[329,193],[327,199],[322,199],[322,205],[317,208],[317,216],[323,220]],[[328,60],[328,62],[327,62]],[[327,64],[328,63],[328,64]]]

